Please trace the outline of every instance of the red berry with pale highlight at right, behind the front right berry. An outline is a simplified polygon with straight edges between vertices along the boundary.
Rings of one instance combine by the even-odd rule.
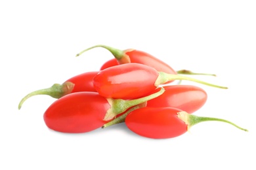
[[[192,85],[165,86],[165,92],[147,102],[147,107],[175,107],[189,114],[200,109],[207,101],[207,93]]]

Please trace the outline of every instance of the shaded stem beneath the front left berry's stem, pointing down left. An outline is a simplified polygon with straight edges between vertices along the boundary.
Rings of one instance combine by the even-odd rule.
[[[124,114],[122,114],[121,116],[115,118],[114,120],[104,124],[102,126],[102,128],[105,128],[105,127],[109,127],[109,126],[113,126],[115,124],[121,124],[123,122],[125,122],[125,118],[126,116],[132,112],[133,110],[136,110],[136,109],[140,109],[142,107],[146,107],[146,102],[145,103],[142,103],[142,105],[136,105],[135,107],[131,107],[131,109],[127,110]]]

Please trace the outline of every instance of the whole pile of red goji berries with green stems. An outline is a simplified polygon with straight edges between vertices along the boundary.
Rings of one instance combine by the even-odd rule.
[[[26,95],[47,94],[56,98],[43,115],[45,124],[54,131],[85,133],[100,127],[125,123],[131,131],[153,139],[182,135],[191,126],[220,118],[192,114],[207,100],[207,93],[198,86],[172,84],[174,80],[190,80],[215,88],[223,88],[184,75],[207,75],[187,70],[175,71],[167,63],[139,50],[118,50],[102,47],[114,59],[106,61],[100,71],[91,71],[69,78],[62,84]],[[242,127],[239,129],[247,131]]]

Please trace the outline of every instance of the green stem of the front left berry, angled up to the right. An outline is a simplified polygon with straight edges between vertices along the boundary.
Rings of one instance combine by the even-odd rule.
[[[129,109],[130,107],[139,105],[140,103],[144,103],[150,99],[160,96],[163,92],[165,92],[164,88],[160,89],[161,90],[159,92],[152,93],[151,95],[147,95],[146,97],[141,97],[139,99],[124,100],[108,98],[108,103],[110,103],[112,107],[106,112],[104,120],[112,120],[117,116],[117,114],[125,112],[125,110]]]

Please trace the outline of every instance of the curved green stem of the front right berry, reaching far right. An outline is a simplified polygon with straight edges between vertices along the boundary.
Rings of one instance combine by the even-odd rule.
[[[195,124],[198,124],[200,122],[219,121],[219,122],[225,122],[227,124],[231,124],[232,126],[235,126],[238,129],[241,129],[243,131],[248,131],[247,129],[244,129],[244,128],[242,128],[240,126],[237,126],[236,124],[234,124],[234,123],[232,123],[228,120],[224,120],[224,119],[221,119],[221,118],[210,118],[210,117],[196,116],[196,115],[193,115],[193,114],[188,114],[187,112],[178,112],[178,117],[188,125],[188,129],[190,129],[190,127],[192,127]]]

